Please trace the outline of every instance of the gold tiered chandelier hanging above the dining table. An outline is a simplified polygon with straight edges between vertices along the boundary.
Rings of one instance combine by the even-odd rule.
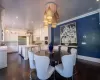
[[[52,25],[52,28],[56,28],[58,19],[57,5],[53,2],[47,3],[44,12],[44,26],[48,27],[48,25]]]

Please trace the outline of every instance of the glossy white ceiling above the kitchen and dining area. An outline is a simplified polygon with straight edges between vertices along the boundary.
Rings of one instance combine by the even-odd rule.
[[[45,4],[50,1],[58,5],[59,22],[99,8],[99,2],[96,0],[2,0],[6,27],[42,27]]]

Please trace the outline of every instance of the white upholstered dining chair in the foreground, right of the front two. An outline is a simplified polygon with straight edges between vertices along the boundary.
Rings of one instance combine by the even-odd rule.
[[[55,66],[56,71],[65,78],[73,78],[73,55],[62,56],[62,64]]]

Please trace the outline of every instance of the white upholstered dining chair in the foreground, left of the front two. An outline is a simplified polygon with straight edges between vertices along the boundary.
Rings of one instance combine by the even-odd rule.
[[[54,67],[50,66],[50,59],[47,56],[34,55],[37,77],[40,80],[48,79],[54,72]]]

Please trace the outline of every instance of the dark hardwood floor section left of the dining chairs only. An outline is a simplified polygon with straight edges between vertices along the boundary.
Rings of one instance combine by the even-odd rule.
[[[0,70],[0,80],[29,80],[29,64],[18,53],[8,54],[8,67]]]

